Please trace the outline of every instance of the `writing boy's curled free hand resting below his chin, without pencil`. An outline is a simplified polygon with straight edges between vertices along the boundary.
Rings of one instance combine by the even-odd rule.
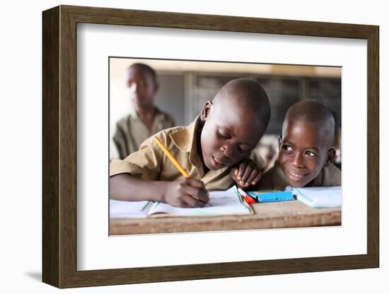
[[[250,159],[242,160],[231,169],[231,177],[240,187],[249,187],[260,182],[262,170]]]

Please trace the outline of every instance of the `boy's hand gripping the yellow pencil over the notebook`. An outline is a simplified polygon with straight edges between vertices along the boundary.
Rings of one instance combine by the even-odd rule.
[[[178,207],[203,207],[209,201],[204,183],[194,179],[181,179],[166,183],[164,202]]]

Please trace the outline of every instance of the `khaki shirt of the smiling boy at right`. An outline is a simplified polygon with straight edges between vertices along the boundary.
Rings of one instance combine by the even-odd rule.
[[[340,172],[339,168],[337,168],[332,163],[327,163],[320,171],[318,177],[313,180],[313,183],[310,185],[310,187],[340,186],[342,184],[341,176],[342,173]],[[274,166],[265,172],[265,175],[257,184],[257,190],[282,191],[287,186],[289,186],[289,182],[286,180],[286,175],[276,161]]]

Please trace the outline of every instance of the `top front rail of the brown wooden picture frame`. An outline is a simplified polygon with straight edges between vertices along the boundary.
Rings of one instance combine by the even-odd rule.
[[[185,28],[194,30],[221,30],[245,33],[281,35],[310,35],[317,37],[352,37],[367,39],[372,25],[321,23],[301,20],[279,20],[207,14],[136,11],[117,8],[61,6],[79,23],[106,23],[112,25],[140,25],[156,28]]]

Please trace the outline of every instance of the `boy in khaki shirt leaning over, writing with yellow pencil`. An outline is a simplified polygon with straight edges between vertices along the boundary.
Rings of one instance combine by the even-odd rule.
[[[190,175],[185,179],[158,147],[153,137],[139,151],[110,164],[110,198],[159,201],[173,206],[201,207],[208,190],[257,184],[263,161],[252,153],[265,133],[269,99],[255,81],[239,78],[205,103],[187,127],[155,136]]]

